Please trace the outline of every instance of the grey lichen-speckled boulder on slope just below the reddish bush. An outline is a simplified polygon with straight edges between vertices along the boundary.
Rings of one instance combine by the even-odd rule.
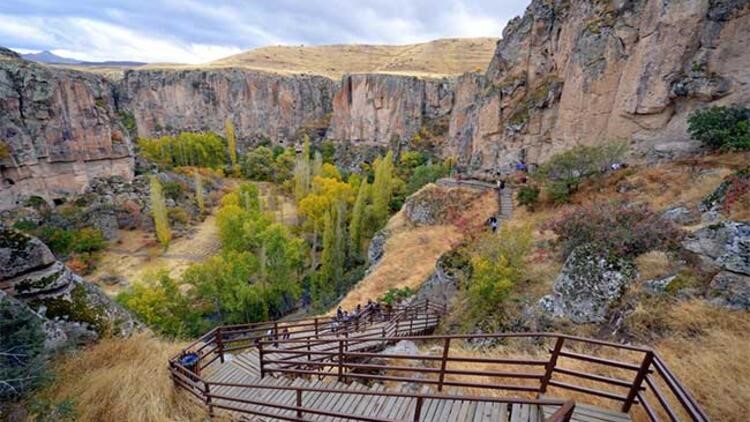
[[[579,246],[565,261],[553,293],[543,297],[539,306],[547,314],[578,324],[604,322],[609,306],[636,278],[632,262],[608,256],[595,245]]]

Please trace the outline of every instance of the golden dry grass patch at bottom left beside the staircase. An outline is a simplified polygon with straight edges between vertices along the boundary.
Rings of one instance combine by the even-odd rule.
[[[59,358],[44,399],[72,399],[77,421],[202,421],[206,413],[170,380],[167,360],[184,344],[150,334],[107,338]]]

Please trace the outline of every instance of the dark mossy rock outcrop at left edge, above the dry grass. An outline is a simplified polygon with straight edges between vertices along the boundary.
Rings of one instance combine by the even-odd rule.
[[[58,338],[96,338],[105,332],[129,335],[141,327],[96,286],[56,261],[39,239],[3,226],[0,268],[2,294],[24,303],[48,321]]]

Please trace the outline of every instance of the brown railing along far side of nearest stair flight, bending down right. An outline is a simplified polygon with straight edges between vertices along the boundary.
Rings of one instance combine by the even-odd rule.
[[[509,341],[526,339],[550,343],[545,359],[476,357],[458,354],[451,345],[469,340]],[[358,342],[410,340],[441,346],[440,355],[408,355],[349,351]],[[615,402],[619,410],[629,413],[641,405],[650,420],[665,417],[672,421],[707,421],[708,417],[695,399],[667,369],[653,350],[555,333],[503,333],[488,335],[405,336],[393,338],[341,338],[316,343],[318,350],[300,352],[289,340],[279,347],[263,343],[265,356],[261,365],[266,374],[336,377],[340,381],[396,381],[431,385],[440,392],[444,387],[500,390],[519,393],[548,394],[551,388],[567,390],[583,397],[597,397]],[[328,347],[321,350],[321,345]],[[609,350],[631,355],[629,361],[612,359],[580,349]],[[610,353],[611,354],[611,353]],[[372,363],[371,359],[395,360],[398,364]],[[571,368],[563,361],[585,365],[588,370]],[[279,366],[286,363],[289,366]],[[458,365],[482,365],[481,369],[459,369]],[[276,366],[274,366],[276,365]],[[602,371],[603,370],[603,371]],[[604,372],[604,373],[602,373]],[[616,372],[613,376],[606,372]],[[498,382],[502,380],[502,382]],[[666,387],[666,388],[665,388]],[[655,399],[655,400],[654,400]]]

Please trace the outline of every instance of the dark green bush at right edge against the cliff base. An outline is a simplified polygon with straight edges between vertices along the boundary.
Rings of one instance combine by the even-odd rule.
[[[709,107],[688,117],[690,136],[711,149],[750,150],[750,108]]]

